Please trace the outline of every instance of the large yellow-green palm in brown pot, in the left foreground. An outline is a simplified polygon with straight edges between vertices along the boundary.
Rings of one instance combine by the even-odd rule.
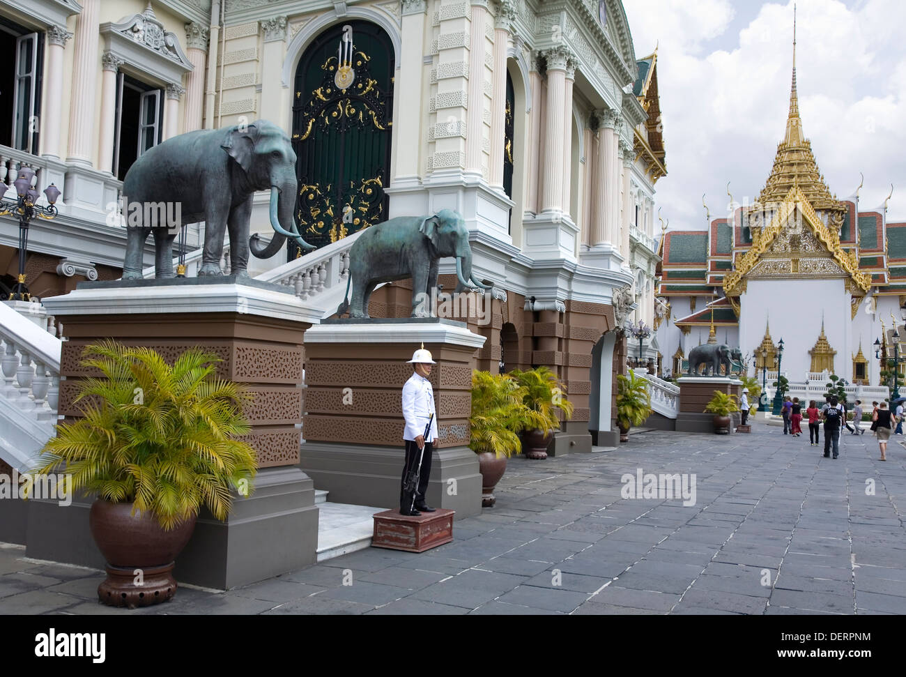
[[[217,378],[217,362],[191,349],[170,366],[150,348],[113,341],[84,350],[82,366],[101,377],[79,383],[82,418],[57,426],[34,472],[65,473],[71,490],[96,494],[89,522],[108,563],[104,604],[169,600],[198,509],[226,519],[231,489],[251,491],[255,450],[238,439],[249,431],[240,411],[249,396]]]

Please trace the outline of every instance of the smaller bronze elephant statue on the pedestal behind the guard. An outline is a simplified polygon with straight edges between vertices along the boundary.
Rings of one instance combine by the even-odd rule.
[[[438,285],[438,260],[456,256],[457,292],[491,287],[472,276],[472,247],[462,216],[441,209],[429,217],[397,217],[368,227],[350,249],[346,296],[337,314],[368,317],[377,285],[412,278],[412,317],[430,317],[426,299]],[[352,301],[349,298],[352,285]]]

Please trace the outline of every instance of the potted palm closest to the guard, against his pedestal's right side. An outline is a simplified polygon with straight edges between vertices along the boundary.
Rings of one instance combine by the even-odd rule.
[[[481,505],[496,503],[494,488],[506,471],[506,459],[522,451],[519,433],[539,422],[537,412],[523,403],[525,386],[506,373],[472,372],[472,413],[469,449],[478,455]]]

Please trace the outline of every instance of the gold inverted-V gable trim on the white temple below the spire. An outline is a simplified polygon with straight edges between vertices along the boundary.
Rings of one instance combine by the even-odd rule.
[[[866,273],[859,270],[859,260],[853,251],[844,251],[840,246],[840,237],[830,228],[824,226],[824,222],[818,217],[814,207],[805,197],[805,193],[795,185],[786,194],[783,202],[777,208],[774,218],[766,227],[762,227],[759,232],[753,231],[752,247],[742,256],[737,263],[736,270],[724,276],[724,294],[727,296],[739,295],[745,277],[760,263],[763,256],[774,243],[777,235],[786,226],[791,218],[795,218],[796,208],[801,212],[805,223],[811,228],[814,236],[824,247],[833,255],[834,261],[840,266],[848,276],[848,284],[854,290],[861,290],[863,294],[867,293],[872,286],[872,278]],[[778,259],[782,260],[782,259]],[[798,259],[796,259],[798,261]],[[793,259],[790,259],[790,266],[786,275],[796,275],[792,266]],[[796,266],[798,268],[798,266]],[[785,268],[786,270],[786,268]]]

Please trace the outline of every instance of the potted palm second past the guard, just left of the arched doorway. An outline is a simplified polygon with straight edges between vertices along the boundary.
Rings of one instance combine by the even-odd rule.
[[[551,438],[560,428],[557,413],[562,414],[564,419],[572,418],[573,402],[564,397],[566,393],[564,383],[545,366],[535,367],[527,372],[515,369],[510,375],[525,388],[523,398],[525,406],[538,414],[539,424],[525,430],[523,435],[525,458],[546,459]]]

